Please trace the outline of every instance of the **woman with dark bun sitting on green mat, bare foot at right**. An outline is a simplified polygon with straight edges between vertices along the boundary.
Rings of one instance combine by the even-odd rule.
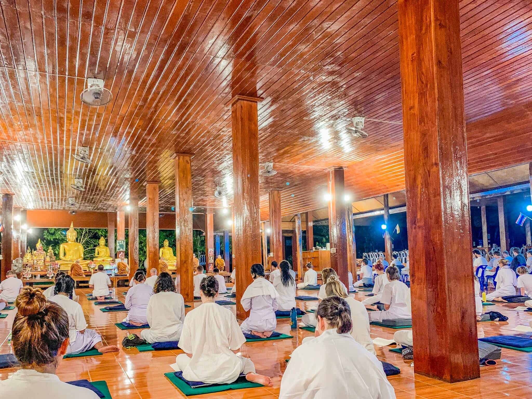
[[[235,354],[246,342],[235,315],[218,305],[218,281],[213,276],[201,282],[202,304],[187,313],[179,347],[185,351],[173,365],[188,381],[230,384],[240,373],[252,383],[272,386],[270,377],[255,373],[251,359]]]

